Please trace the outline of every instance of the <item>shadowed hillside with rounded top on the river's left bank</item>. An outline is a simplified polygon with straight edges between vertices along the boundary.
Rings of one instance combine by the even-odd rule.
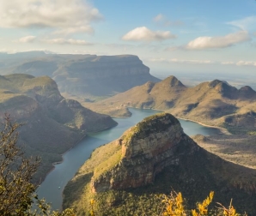
[[[64,99],[50,77],[0,75],[0,117],[9,113],[13,121],[25,123],[20,143],[28,155],[40,155],[42,166],[38,177],[52,169],[52,162],[87,132],[113,127],[109,116],[84,108],[76,100]]]

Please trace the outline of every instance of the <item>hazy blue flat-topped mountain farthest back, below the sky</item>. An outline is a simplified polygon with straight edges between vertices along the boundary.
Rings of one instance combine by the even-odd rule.
[[[137,56],[132,55],[46,55],[42,52],[25,52],[23,56],[22,53],[5,54],[0,60],[1,64],[2,75],[48,75],[57,82],[61,93],[81,101],[109,97],[147,81],[160,81],[149,74],[149,68]]]

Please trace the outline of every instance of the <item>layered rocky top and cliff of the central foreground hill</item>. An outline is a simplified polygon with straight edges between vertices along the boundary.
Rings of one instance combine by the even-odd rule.
[[[180,155],[198,150],[183,133],[180,122],[168,113],[145,118],[116,142],[121,145],[121,159],[112,169],[92,178],[94,192],[154,183],[165,167],[179,165]]]

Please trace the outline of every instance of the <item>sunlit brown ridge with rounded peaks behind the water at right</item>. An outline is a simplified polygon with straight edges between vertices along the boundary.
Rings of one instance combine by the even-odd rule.
[[[255,130],[256,92],[251,87],[236,89],[226,81],[207,81],[196,87],[185,87],[174,76],[163,81],[133,87],[98,103],[87,103],[94,111],[125,113],[126,107],[168,111],[175,117],[228,127],[238,132]],[[122,111],[119,111],[122,110]]]

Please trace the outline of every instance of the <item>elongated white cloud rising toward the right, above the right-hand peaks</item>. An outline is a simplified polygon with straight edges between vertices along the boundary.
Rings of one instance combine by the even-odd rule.
[[[199,37],[193,39],[186,45],[186,49],[189,50],[204,50],[204,49],[216,49],[225,48],[231,45],[235,45],[247,40],[250,40],[250,36],[246,31],[237,33],[229,33],[225,36],[218,37]]]

